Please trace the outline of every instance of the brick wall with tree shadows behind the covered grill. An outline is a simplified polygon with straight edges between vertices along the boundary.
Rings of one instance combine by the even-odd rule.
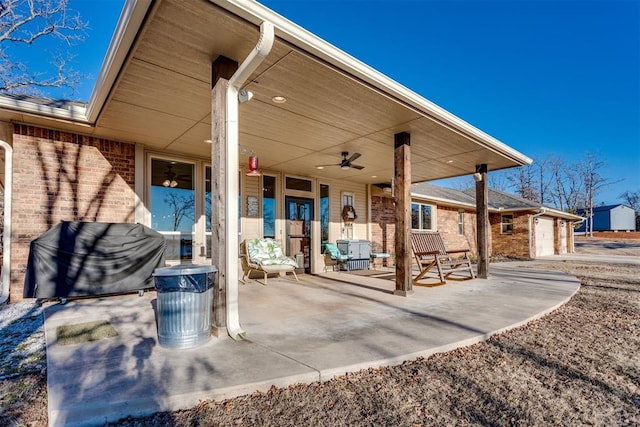
[[[30,242],[60,221],[133,222],[135,146],[14,125],[11,301]]]

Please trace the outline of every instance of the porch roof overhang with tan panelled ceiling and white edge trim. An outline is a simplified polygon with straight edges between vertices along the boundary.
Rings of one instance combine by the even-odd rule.
[[[375,183],[394,173],[393,141],[411,135],[412,181],[531,163],[424,97],[253,0],[128,0],[86,108],[0,100],[0,119],[143,144],[151,151],[209,157],[211,64],[242,62],[259,25],[276,42],[245,86],[240,144],[265,170]],[[419,70],[416,70],[419,72]],[[276,104],[275,95],[287,102]],[[339,163],[359,152],[362,170]],[[241,159],[244,161],[246,159]]]

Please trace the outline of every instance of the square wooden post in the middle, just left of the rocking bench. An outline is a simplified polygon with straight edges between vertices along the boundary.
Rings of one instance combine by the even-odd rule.
[[[395,221],[396,221],[396,295],[413,293],[411,277],[411,135],[394,136],[395,147]]]

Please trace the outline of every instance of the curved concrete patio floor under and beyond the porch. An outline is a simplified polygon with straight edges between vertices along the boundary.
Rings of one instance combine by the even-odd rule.
[[[49,424],[99,425],[398,364],[522,325],[579,288],[575,277],[525,266],[492,264],[488,280],[415,287],[406,298],[392,294],[390,280],[344,272],[250,281],[240,288],[248,339],[213,338],[184,350],[158,345],[154,292],[50,305]],[[119,335],[57,343],[58,326],[96,320]]]

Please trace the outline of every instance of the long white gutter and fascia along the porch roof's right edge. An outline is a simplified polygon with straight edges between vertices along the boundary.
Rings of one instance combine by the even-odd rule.
[[[470,125],[426,98],[407,89],[372,67],[348,55],[318,36],[294,24],[255,0],[209,0],[241,18],[260,25],[272,22],[276,35],[292,45],[334,65],[340,70],[367,82],[389,96],[404,102],[416,111],[429,116],[473,139],[485,148],[497,152],[520,165],[529,165],[533,160],[507,144]]]

